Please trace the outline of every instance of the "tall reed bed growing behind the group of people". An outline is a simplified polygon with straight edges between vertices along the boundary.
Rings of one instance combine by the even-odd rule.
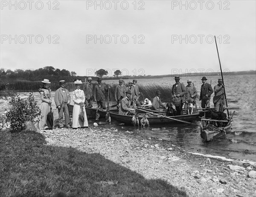
[[[93,89],[97,82],[93,82]],[[103,83],[106,84],[106,83]],[[111,83],[111,84],[106,84],[107,86],[109,85],[111,87],[110,92],[109,92],[109,101],[114,101],[115,100],[115,90],[116,86],[118,84],[116,83]],[[126,84],[128,86],[128,84]],[[37,92],[39,88],[42,87],[42,82],[29,82],[29,81],[15,81],[12,83],[8,84],[0,84],[0,90],[15,90],[17,92]],[[52,91],[57,90],[60,87],[58,82],[52,82],[50,84],[50,89]],[[66,84],[66,89],[72,92],[73,90],[76,89],[75,84],[73,83],[67,83]],[[84,84],[81,85],[81,89],[84,89]],[[140,98],[139,101],[144,101],[145,98],[148,98],[149,100],[152,101],[152,99],[156,96],[156,91],[159,90],[161,94],[161,101],[162,102],[169,102],[171,98],[171,92],[172,92],[172,86],[171,85],[156,85],[156,84],[147,84],[147,85],[139,85],[139,90],[140,90]],[[108,92],[105,93],[105,97],[108,98]]]

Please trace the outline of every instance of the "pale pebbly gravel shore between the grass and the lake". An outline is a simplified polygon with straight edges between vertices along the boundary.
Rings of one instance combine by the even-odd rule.
[[[191,197],[255,197],[256,163],[194,155],[160,138],[116,128],[40,130],[52,146],[99,153],[145,178],[167,180]]]

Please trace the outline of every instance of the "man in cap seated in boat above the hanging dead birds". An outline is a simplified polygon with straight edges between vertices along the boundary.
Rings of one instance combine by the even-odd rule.
[[[136,104],[131,105],[131,91],[125,92],[126,96],[121,100],[119,106],[119,114],[121,115],[135,115]]]

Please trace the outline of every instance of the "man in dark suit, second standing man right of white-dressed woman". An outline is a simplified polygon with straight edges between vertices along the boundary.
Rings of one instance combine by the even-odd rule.
[[[102,79],[98,78],[97,80],[98,84],[94,87],[94,99],[97,102],[98,108],[102,108],[103,110],[106,109],[106,101],[105,101],[105,92],[110,89],[110,87],[106,86],[105,84],[102,84]]]

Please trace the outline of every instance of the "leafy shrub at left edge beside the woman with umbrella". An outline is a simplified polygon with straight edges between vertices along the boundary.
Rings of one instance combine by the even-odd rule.
[[[26,121],[39,122],[38,118],[37,120],[35,118],[41,114],[41,110],[37,106],[33,93],[29,93],[29,97],[25,100],[16,94],[11,97],[10,104],[12,108],[6,113],[6,121],[10,122],[13,132],[25,129]]]

